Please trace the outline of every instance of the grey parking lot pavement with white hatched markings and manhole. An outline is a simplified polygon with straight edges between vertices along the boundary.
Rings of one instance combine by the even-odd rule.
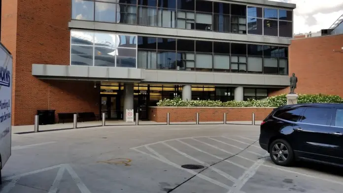
[[[258,135],[258,126],[239,125],[12,134],[0,193],[342,192],[343,169],[274,165]],[[187,164],[203,168],[182,167]]]

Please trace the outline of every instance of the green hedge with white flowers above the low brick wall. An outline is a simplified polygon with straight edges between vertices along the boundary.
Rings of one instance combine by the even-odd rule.
[[[220,100],[190,100],[183,101],[179,96],[174,99],[163,99],[157,106],[206,106],[206,107],[278,107],[286,105],[286,94],[268,97],[265,100],[222,102]],[[298,103],[343,103],[343,98],[337,95],[299,95]]]

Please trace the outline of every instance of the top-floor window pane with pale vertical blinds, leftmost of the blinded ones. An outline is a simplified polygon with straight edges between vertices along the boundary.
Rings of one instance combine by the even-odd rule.
[[[139,6],[138,24],[141,26],[157,26],[156,8]]]

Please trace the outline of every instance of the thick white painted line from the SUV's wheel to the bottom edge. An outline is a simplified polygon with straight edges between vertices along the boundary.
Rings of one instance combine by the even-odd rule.
[[[265,154],[265,156],[268,155]],[[245,185],[245,183],[255,175],[257,172],[258,168],[263,164],[265,160],[260,159],[256,161],[248,170],[246,170],[243,175],[240,176],[238,181],[233,185],[234,189],[230,190],[228,193],[237,193],[240,192],[240,189]]]

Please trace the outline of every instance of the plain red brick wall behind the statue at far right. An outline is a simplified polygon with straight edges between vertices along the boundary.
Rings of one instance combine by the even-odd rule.
[[[343,34],[293,39],[289,47],[289,74],[298,77],[296,93],[343,96]],[[270,90],[269,96],[289,88]]]

